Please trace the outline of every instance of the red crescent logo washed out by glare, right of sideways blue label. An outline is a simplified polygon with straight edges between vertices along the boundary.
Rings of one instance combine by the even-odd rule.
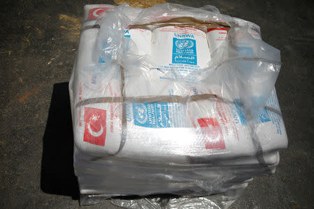
[[[216,118],[198,118],[197,122],[202,129],[205,138],[205,148],[207,150],[225,149],[223,131]]]

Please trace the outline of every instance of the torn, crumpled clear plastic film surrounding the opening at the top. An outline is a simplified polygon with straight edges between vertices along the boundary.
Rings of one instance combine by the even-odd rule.
[[[281,68],[280,51],[262,39],[253,37],[250,33],[252,29],[244,20],[220,14],[214,6],[203,8],[172,3],[159,4],[147,9],[135,9],[127,4],[117,6],[99,17],[100,32],[94,57],[98,59],[100,56],[105,63],[119,63],[122,67],[130,69],[150,69],[151,64],[155,63],[147,59],[147,56],[138,56],[134,51],[126,52],[124,49],[124,29],[128,25],[149,24],[175,17],[225,22],[231,27],[228,34],[230,43],[223,43],[219,50],[211,54],[211,62],[207,68],[200,70],[196,75],[190,73],[190,77],[194,76],[192,84],[184,82],[186,77],[181,77],[182,83],[190,86],[197,82],[212,82],[220,86],[221,92],[227,91],[234,98],[239,95],[246,119],[254,132],[256,119],[274,88]],[[130,13],[136,15],[129,15]],[[259,33],[259,28],[256,30]],[[248,48],[253,50],[253,53],[247,52]],[[172,70],[175,72],[177,69],[173,67]],[[180,74],[167,73],[165,77],[179,80]]]

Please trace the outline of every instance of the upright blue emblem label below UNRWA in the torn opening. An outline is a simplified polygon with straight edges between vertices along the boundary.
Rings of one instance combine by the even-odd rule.
[[[174,35],[176,35],[176,33],[174,33]],[[190,34],[184,34],[184,35],[190,35]],[[181,36],[184,36],[184,35],[181,35]],[[172,63],[197,65],[195,40],[190,39],[190,38],[184,38],[184,39],[173,38]]]

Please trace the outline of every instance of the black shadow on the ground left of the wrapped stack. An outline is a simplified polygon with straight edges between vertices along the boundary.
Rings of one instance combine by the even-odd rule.
[[[78,199],[73,169],[73,129],[68,83],[54,84],[45,134],[40,188],[45,193]]]

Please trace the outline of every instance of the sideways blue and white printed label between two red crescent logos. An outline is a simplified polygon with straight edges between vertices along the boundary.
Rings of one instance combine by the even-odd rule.
[[[129,108],[128,106],[126,107],[127,110]],[[183,127],[182,108],[177,103],[136,103],[133,104],[132,109],[134,124],[142,127],[157,128]]]

